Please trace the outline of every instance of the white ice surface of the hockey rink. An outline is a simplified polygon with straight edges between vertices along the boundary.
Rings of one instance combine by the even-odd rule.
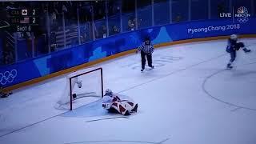
[[[240,41],[252,52],[238,51],[233,70],[226,40],[158,48],[155,68],[143,73],[140,54],[94,66],[103,69],[105,90],[138,102],[127,117],[90,98],[72,111],[55,109],[65,76],[14,90],[0,100],[0,143],[255,144],[256,39]]]

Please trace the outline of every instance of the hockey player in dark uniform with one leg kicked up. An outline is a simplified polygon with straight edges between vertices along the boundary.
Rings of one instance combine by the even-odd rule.
[[[227,69],[232,69],[233,66],[232,62],[234,62],[236,58],[236,50],[239,50],[242,48],[242,50],[245,53],[249,53],[250,50],[246,49],[243,42],[238,42],[238,36],[236,34],[232,34],[230,38],[228,39],[228,44],[226,46],[226,52],[230,53],[230,62],[226,65]]]

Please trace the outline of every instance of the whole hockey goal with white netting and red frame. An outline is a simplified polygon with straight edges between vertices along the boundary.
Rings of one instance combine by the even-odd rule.
[[[78,70],[66,76],[65,90],[55,108],[74,110],[102,97],[102,68]]]

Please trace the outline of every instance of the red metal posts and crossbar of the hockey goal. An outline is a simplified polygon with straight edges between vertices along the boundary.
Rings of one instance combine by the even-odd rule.
[[[101,96],[101,98],[103,97],[103,72],[102,72],[102,67],[100,67],[100,68],[97,68],[97,69],[94,69],[94,70],[89,70],[89,71],[86,71],[86,72],[83,72],[83,73],[81,73],[81,74],[78,74],[78,75],[74,75],[73,77],[70,77],[69,78],[69,89],[70,89],[70,110],[73,110],[73,95],[72,95],[72,79],[73,78],[78,78],[79,76],[82,76],[82,75],[84,75],[84,74],[90,74],[90,73],[93,73],[94,71],[97,71],[97,70],[100,70],[100,77],[101,77],[101,94],[102,94],[102,96]]]

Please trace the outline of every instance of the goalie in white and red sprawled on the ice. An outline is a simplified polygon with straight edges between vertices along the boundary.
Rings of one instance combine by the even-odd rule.
[[[109,89],[106,90],[102,100],[102,107],[109,112],[130,115],[130,113],[137,112],[138,109],[138,103],[128,99],[121,99]]]

